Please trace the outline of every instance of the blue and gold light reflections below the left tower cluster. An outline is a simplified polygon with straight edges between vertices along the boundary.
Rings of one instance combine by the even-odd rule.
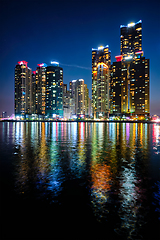
[[[60,191],[62,177],[55,141],[58,139],[58,125],[56,129],[54,127],[35,122],[29,125],[17,123],[15,128],[15,190],[26,198],[30,194],[35,197],[40,194],[41,198],[47,195],[52,201],[53,196],[49,195],[57,196]],[[50,145],[48,138],[51,139]]]

